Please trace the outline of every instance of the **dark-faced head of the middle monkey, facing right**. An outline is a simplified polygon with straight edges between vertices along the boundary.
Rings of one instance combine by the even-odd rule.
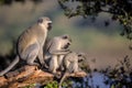
[[[72,44],[72,38],[68,34],[62,35],[62,43],[64,45],[64,48],[68,48],[69,45]]]

